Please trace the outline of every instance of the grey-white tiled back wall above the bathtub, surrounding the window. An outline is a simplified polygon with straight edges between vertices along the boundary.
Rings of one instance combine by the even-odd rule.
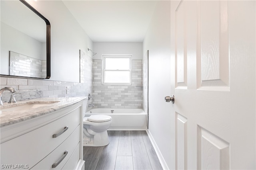
[[[93,61],[96,108],[142,108],[142,60],[132,60],[132,85],[102,85],[102,60]]]

